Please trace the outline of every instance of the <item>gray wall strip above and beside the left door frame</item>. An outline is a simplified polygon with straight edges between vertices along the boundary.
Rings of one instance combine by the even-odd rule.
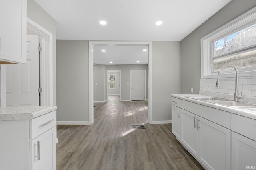
[[[34,0],[27,0],[27,16],[52,33],[53,51],[53,104],[56,105],[56,20],[54,20]],[[58,111],[57,111],[58,114]]]

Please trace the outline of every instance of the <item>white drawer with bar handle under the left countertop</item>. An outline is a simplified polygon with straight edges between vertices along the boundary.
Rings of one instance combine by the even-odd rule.
[[[32,119],[30,121],[30,126],[30,139],[34,139],[38,135],[56,126],[56,111],[52,111],[50,113],[46,113],[45,115]]]

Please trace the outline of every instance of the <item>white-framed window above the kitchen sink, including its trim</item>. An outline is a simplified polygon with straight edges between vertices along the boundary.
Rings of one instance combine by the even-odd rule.
[[[242,76],[256,75],[256,8],[201,39],[201,78],[216,77],[224,66]],[[228,77],[234,70],[223,72]]]

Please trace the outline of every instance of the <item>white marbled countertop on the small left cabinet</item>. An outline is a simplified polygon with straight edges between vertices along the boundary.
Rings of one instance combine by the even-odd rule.
[[[57,109],[57,106],[0,107],[0,121],[30,120]]]

